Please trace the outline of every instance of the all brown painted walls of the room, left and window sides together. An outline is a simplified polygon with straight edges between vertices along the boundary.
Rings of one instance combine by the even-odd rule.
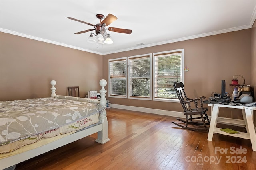
[[[253,67],[256,63],[255,45],[252,47],[255,35],[251,30],[212,35],[103,57],[1,33],[0,100],[49,96],[50,80],[57,81],[57,94],[67,94],[67,86],[80,86],[81,96],[84,96],[88,90],[95,90],[95,87],[100,89],[98,82],[101,78],[108,80],[108,59],[182,48],[184,66],[189,68],[184,75],[188,96],[209,97],[212,92],[220,93],[221,80],[226,80],[226,92],[231,94],[232,89],[228,84],[235,74],[244,76],[246,84],[253,83],[254,87],[256,84],[255,77],[251,74],[256,72]],[[255,24],[253,30],[255,31]],[[108,90],[108,85],[106,89]],[[112,104],[182,111],[179,103],[106,97]]]

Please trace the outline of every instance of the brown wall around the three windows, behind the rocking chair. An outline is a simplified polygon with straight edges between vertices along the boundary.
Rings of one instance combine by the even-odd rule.
[[[108,59],[174,49],[184,49],[184,66],[189,68],[189,71],[184,73],[184,86],[190,98],[209,97],[212,92],[220,93],[221,80],[226,80],[226,92],[232,94],[228,84],[236,74],[244,76],[246,84],[251,84],[250,29],[104,55],[103,78],[108,79]],[[240,81],[242,83],[243,79]],[[182,111],[179,103],[108,99],[113,104]]]

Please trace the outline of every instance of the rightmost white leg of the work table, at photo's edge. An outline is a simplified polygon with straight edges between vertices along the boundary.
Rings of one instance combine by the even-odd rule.
[[[256,132],[253,124],[253,110],[250,107],[244,107],[248,132],[252,143],[252,150],[256,151]]]

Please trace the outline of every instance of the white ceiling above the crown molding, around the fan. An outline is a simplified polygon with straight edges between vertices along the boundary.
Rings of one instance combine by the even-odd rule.
[[[113,44],[88,43],[96,14],[118,19]],[[0,31],[97,54],[110,54],[251,28],[256,0],[0,0]],[[95,33],[94,31],[92,31]],[[137,46],[143,43],[144,45]]]

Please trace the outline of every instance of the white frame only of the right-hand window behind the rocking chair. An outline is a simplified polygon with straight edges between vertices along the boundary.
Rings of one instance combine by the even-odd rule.
[[[153,53],[153,101],[162,101],[162,102],[180,102],[178,99],[165,99],[165,98],[155,98],[155,55],[159,54],[164,54],[164,53],[175,53],[181,51],[181,67],[180,67],[180,72],[181,72],[181,82],[184,82],[184,49],[176,49],[176,50],[170,50],[170,51],[162,51],[158,53]]]

